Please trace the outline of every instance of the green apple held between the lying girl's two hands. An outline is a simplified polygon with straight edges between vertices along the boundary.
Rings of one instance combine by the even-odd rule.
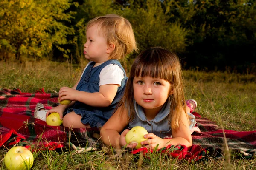
[[[145,130],[144,127],[135,126],[131,128],[131,130],[125,136],[125,142],[128,144],[137,143],[135,149],[139,149],[141,147],[140,142],[148,140],[148,138],[144,138],[144,135],[148,134],[148,131]]]

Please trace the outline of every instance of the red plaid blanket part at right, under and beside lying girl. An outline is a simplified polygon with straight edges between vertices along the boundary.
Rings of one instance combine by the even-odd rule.
[[[196,122],[201,132],[195,131],[192,133],[193,144],[190,150],[185,145],[179,144],[177,146],[168,145],[155,151],[140,148],[131,151],[131,153],[143,152],[146,155],[148,152],[167,152],[172,157],[187,160],[198,160],[206,154],[213,157],[222,157],[226,147],[225,134],[228,149],[233,154],[238,153],[236,154],[237,157],[241,155],[248,159],[256,155],[256,131],[222,130],[215,122],[201,118],[196,112],[192,114],[196,116]]]

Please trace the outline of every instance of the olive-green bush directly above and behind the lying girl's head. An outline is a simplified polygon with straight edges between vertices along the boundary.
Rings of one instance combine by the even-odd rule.
[[[163,3],[156,0],[147,0],[145,3],[130,1],[130,5],[122,9],[122,12],[131,22],[141,50],[161,46],[183,52],[186,48],[187,31],[176,21],[168,22],[170,16],[165,14],[162,6]]]

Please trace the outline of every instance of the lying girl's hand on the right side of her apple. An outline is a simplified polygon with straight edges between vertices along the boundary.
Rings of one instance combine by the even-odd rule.
[[[164,140],[153,133],[144,135],[144,138],[148,138],[148,140],[141,142],[141,145],[144,145],[144,147],[147,147],[148,149],[154,149],[158,144],[157,149],[164,147]]]

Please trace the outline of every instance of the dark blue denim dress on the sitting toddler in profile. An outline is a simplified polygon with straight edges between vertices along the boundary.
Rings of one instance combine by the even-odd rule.
[[[81,122],[83,124],[88,123],[90,127],[102,127],[111,117],[114,109],[123,96],[128,78],[125,74],[124,68],[118,60],[108,60],[94,68],[93,66],[95,65],[95,62],[91,62],[85,69],[84,74],[82,75],[81,80],[76,87],[76,90],[79,91],[86,91],[90,93],[99,92],[99,74],[102,68],[109,64],[118,65],[124,72],[124,78],[122,79],[121,86],[118,87],[116,96],[113,99],[111,105],[108,107],[93,107],[76,101],[72,108],[67,109],[67,113],[74,111],[76,114],[81,115]]]

